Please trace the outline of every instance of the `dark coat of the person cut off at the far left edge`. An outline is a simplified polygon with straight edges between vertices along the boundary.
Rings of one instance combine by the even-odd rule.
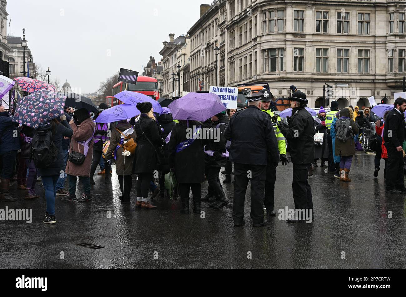
[[[0,112],[0,155],[20,149],[19,134],[17,132],[17,137],[13,137],[14,131],[17,131],[17,124],[13,122],[13,117],[9,117],[8,111]]]

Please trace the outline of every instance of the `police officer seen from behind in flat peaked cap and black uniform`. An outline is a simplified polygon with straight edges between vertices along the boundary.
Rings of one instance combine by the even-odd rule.
[[[265,178],[268,153],[276,166],[279,151],[276,136],[269,115],[261,111],[263,93],[247,96],[248,107],[231,117],[224,135],[231,141],[229,158],[234,163],[234,205],[235,226],[244,225],[244,202],[248,181],[251,180],[251,213],[254,227],[268,225],[263,219]]]

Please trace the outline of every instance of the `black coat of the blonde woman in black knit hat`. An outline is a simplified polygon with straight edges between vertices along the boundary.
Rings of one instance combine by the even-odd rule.
[[[137,134],[137,147],[135,149],[135,162],[133,173],[142,172],[154,172],[159,170],[157,154],[159,148],[165,144],[165,140],[162,139],[159,125],[153,119],[150,119],[147,115],[141,114],[140,118],[134,125],[135,132]],[[143,132],[145,133],[143,134]],[[152,142],[153,145],[147,140]]]

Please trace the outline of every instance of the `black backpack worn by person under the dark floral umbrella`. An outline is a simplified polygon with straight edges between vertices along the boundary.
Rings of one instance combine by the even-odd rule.
[[[35,167],[47,168],[56,161],[58,148],[52,141],[52,132],[35,131],[32,137],[32,159]]]

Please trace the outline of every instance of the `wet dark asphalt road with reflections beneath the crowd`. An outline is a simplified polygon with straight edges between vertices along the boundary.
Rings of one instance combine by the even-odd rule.
[[[352,182],[344,184],[319,166],[309,178],[315,221],[287,224],[276,216],[260,228],[252,227],[249,195],[246,225],[234,227],[232,183],[223,185],[230,204],[213,210],[203,202],[203,219],[192,213],[192,206],[189,215],[179,214],[180,200],[157,197],[158,209],[153,211],[121,205],[115,174],[110,185],[95,176],[92,202],[61,202],[58,196],[58,223],[46,225],[42,184],[37,182],[41,198],[0,202],[3,209],[33,210],[30,224],[0,221],[0,268],[406,268],[406,195],[385,195],[383,169],[374,178],[373,168],[374,155],[357,153]],[[279,165],[276,211],[294,207],[291,184],[292,164]],[[207,182],[202,195],[206,188]],[[79,242],[105,248],[93,250],[76,245]]]

